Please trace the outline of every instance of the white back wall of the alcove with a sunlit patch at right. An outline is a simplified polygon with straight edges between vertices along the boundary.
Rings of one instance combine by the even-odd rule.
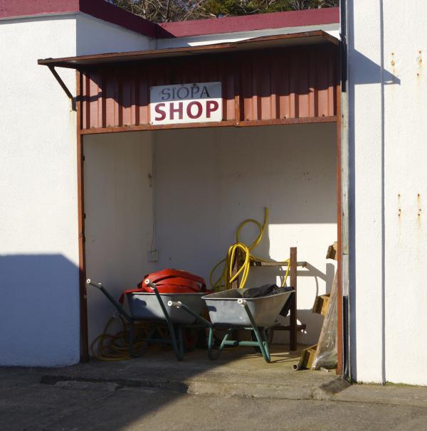
[[[311,308],[334,277],[325,255],[337,240],[335,124],[162,130],[154,141],[157,267],[209,280],[238,224],[262,222],[266,206],[268,231],[255,255],[285,260],[297,246],[298,260],[309,262],[298,270],[298,319],[307,324],[299,341],[317,342],[322,317]],[[251,243],[256,233],[248,226],[241,239]],[[253,268],[247,285],[280,282],[280,274]]]

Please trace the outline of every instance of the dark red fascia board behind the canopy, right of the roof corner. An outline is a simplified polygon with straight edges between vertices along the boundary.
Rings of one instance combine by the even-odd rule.
[[[179,38],[185,36],[263,30],[265,28],[315,26],[331,23],[339,23],[339,8],[337,7],[161,23],[159,27],[161,27],[164,32],[159,31],[158,37]]]

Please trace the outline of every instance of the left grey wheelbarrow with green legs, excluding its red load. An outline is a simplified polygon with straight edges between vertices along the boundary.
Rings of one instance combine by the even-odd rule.
[[[148,284],[153,292],[127,293],[126,297],[130,308],[130,314],[128,314],[122,307],[122,304],[117,302],[101,283],[92,282],[90,279],[87,280],[87,283],[100,289],[117,309],[117,312],[129,323],[129,352],[131,356],[142,356],[150,343],[171,344],[176,358],[178,361],[182,361],[184,358],[183,330],[206,327],[204,321],[199,324],[195,323],[197,319],[199,319],[199,314],[206,309],[206,304],[203,300],[206,294],[204,292],[194,294],[161,294],[156,284],[145,280],[145,284]],[[184,309],[167,307],[169,302],[189,304],[189,307],[191,307],[191,314]],[[147,338],[144,340],[142,348],[138,351],[138,354],[136,354],[134,349],[135,322],[137,321],[149,321],[152,323],[152,327],[147,334]],[[159,334],[159,325],[165,323],[169,329],[170,339],[162,338],[159,335],[156,336],[156,334]]]

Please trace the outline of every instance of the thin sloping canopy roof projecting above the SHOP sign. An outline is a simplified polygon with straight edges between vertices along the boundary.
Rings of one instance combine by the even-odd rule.
[[[137,62],[153,58],[173,58],[209,53],[222,53],[225,51],[238,52],[244,50],[320,45],[325,43],[338,45],[339,41],[337,38],[334,38],[325,31],[316,30],[306,31],[303,33],[283,34],[278,36],[263,36],[259,38],[246,39],[245,41],[216,43],[204,46],[130,51],[125,53],[81,55],[78,57],[65,58],[46,58],[44,60],[38,60],[38,64],[58,68],[84,69],[87,66],[93,65]]]

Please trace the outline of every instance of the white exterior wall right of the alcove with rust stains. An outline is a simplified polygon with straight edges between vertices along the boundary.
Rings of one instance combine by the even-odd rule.
[[[352,376],[427,385],[427,4],[348,3]]]

